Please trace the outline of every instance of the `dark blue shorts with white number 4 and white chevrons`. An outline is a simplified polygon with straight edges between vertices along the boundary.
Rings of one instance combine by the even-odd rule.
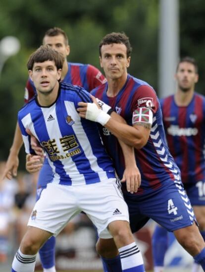
[[[168,231],[190,226],[196,221],[193,208],[183,186],[173,181],[145,196],[125,195],[132,232],[152,218]]]

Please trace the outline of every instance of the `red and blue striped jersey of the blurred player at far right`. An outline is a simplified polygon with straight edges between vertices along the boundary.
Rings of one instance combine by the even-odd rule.
[[[194,93],[187,107],[174,95],[160,100],[167,143],[183,183],[205,181],[205,97]]]

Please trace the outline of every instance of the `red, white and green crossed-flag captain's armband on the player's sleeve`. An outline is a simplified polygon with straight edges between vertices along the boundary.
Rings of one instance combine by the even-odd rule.
[[[132,124],[137,125],[139,123],[147,123],[152,126],[153,124],[153,112],[149,108],[138,108],[133,112]]]

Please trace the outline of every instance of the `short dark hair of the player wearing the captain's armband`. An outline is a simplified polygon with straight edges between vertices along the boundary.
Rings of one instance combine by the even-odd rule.
[[[130,45],[129,38],[124,32],[112,32],[102,38],[102,41],[99,44],[99,54],[101,57],[102,57],[101,54],[102,45],[107,44],[124,44],[127,48],[127,58],[131,56],[132,47]]]

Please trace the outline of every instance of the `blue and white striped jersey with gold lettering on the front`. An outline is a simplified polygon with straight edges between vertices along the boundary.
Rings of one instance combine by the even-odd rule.
[[[34,97],[18,113],[27,153],[32,153],[29,129],[45,149],[53,171],[52,182],[82,185],[114,178],[115,171],[95,122],[81,119],[78,102],[91,102],[79,86],[60,83],[56,101],[41,107]]]

